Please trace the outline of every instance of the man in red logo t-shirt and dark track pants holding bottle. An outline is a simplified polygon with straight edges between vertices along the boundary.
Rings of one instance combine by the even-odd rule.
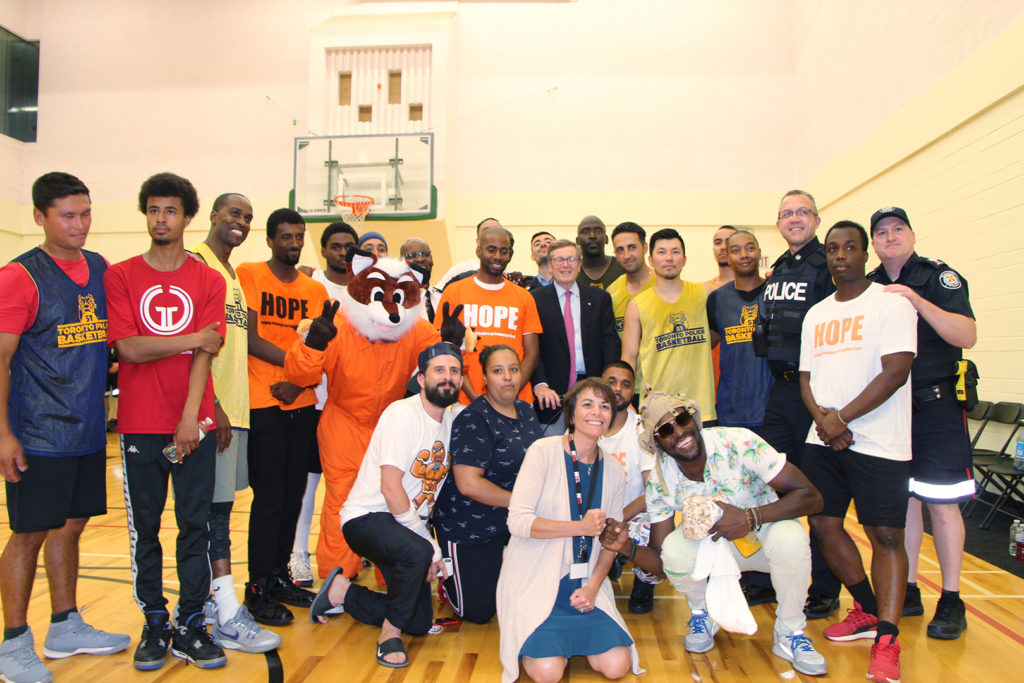
[[[153,239],[150,250],[111,266],[104,278],[108,343],[121,362],[118,431],[132,577],[145,614],[135,668],[159,669],[170,645],[175,656],[210,669],[226,659],[203,618],[210,595],[207,518],[217,439],[204,439],[200,422],[209,420],[209,430],[216,419],[210,366],[223,342],[226,286],[219,273],[185,252],[184,229],[199,211],[188,180],[158,173],[142,183],[138,204]],[[165,455],[167,446],[174,447],[173,460]],[[174,485],[180,583],[173,627],[159,537],[168,475]]]

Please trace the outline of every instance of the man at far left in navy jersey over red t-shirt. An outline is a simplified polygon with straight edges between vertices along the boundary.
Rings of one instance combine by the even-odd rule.
[[[0,268],[0,471],[11,530],[0,558],[5,681],[53,680],[28,624],[44,542],[46,656],[111,654],[131,643],[85,624],[75,594],[79,537],[89,517],[106,512],[106,261],[82,249],[92,203],[81,180],[46,173],[32,185],[32,203],[43,243]]]

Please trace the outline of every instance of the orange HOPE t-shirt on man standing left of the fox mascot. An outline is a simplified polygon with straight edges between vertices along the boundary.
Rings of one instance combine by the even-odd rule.
[[[260,338],[287,351],[298,339],[295,328],[303,317],[321,314],[327,289],[312,278],[300,272],[291,283],[283,283],[266,262],[242,263],[236,268],[249,310],[256,313],[256,332]],[[276,405],[291,411],[316,402],[312,387],[306,387],[287,405],[270,394],[270,387],[286,382],[285,369],[249,355],[250,409]]]

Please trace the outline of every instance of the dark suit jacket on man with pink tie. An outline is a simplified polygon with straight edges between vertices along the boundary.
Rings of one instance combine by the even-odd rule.
[[[596,287],[580,287],[580,330],[583,335],[583,357],[588,377],[600,377],[604,367],[622,355],[622,341],[615,332],[615,316],[611,297]],[[565,337],[562,318],[564,299],[558,298],[552,283],[531,292],[537,301],[544,332],[541,333],[541,357],[530,381],[536,386],[547,382],[559,395],[568,389],[569,341]],[[541,413],[539,413],[541,416]],[[542,422],[547,419],[541,416]]]

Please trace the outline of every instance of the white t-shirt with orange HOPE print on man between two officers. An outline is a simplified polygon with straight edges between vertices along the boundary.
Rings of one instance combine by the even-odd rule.
[[[811,307],[800,339],[800,371],[811,374],[818,405],[842,409],[882,372],[882,356],[918,350],[918,312],[909,301],[871,283],[850,301],[836,295]],[[910,382],[877,409],[850,421],[851,451],[910,460]],[[824,445],[814,425],[808,443]]]

